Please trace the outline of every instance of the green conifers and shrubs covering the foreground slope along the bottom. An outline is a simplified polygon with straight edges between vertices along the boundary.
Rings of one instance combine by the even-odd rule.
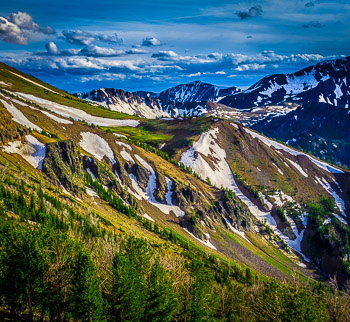
[[[117,234],[110,222],[58,192],[6,175],[0,184],[3,315],[50,321],[322,321],[349,316],[345,294],[320,283],[282,283],[209,255],[138,216],[98,180],[85,180],[164,243]],[[335,303],[342,303],[342,309]]]

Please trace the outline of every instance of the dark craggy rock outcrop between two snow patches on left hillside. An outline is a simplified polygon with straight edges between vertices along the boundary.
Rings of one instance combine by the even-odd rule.
[[[59,186],[79,192],[84,177],[82,157],[73,141],[46,144],[42,171]]]

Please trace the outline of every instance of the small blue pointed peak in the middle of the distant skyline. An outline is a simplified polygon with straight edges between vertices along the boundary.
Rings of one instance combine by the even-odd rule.
[[[168,88],[158,94],[158,98],[164,101],[175,102],[204,102],[218,101],[221,98],[239,93],[241,90],[237,87],[220,88],[218,86],[195,81],[188,84],[180,84]]]

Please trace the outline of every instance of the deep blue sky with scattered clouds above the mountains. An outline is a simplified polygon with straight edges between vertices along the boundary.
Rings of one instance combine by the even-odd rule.
[[[248,88],[350,55],[350,0],[11,0],[0,60],[68,92]]]

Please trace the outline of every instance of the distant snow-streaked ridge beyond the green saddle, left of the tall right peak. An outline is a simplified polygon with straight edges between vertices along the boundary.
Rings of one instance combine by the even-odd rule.
[[[203,116],[223,113],[229,109],[216,104],[225,95],[240,91],[236,87],[218,88],[200,81],[178,85],[161,93],[100,88],[88,93],[75,93],[76,97],[96,102],[112,111],[145,118],[169,116]],[[219,96],[217,96],[219,95]]]

